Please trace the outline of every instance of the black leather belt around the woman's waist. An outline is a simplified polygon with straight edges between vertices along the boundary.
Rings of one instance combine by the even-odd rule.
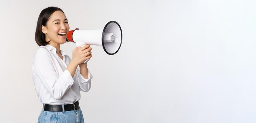
[[[71,111],[71,110],[78,110],[79,107],[79,103],[78,101],[76,101],[73,104],[65,104],[64,105],[64,109],[62,107],[62,105],[49,105],[49,104],[45,104],[45,106],[43,106],[43,110],[45,111]]]

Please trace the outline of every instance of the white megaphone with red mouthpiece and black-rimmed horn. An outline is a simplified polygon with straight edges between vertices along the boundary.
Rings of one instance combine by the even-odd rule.
[[[79,30],[76,28],[67,33],[67,40],[76,43],[76,46],[82,47],[86,44],[101,46],[109,55],[118,52],[122,44],[122,38],[122,29],[116,21],[110,21],[104,28],[96,30]]]

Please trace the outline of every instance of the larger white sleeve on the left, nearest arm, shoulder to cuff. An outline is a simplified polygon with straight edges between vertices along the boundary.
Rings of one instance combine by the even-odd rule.
[[[61,99],[74,84],[74,79],[68,70],[58,73],[52,60],[45,48],[37,49],[33,58],[34,72],[51,96]]]

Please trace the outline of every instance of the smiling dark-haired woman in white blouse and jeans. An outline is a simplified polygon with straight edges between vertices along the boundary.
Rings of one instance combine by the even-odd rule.
[[[40,46],[33,58],[33,81],[43,109],[39,123],[83,123],[79,107],[80,91],[89,91],[93,76],[85,60],[92,57],[90,45],[76,47],[72,59],[60,50],[69,31],[62,9],[48,7],[37,20],[36,43]],[[77,69],[79,65],[80,69]]]

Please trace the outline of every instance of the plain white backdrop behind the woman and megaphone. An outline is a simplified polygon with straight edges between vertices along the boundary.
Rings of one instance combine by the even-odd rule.
[[[32,80],[42,9],[60,7],[70,30],[123,31],[114,56],[92,46],[86,123],[255,123],[254,0],[1,0],[1,123],[35,123],[42,110]],[[60,49],[72,58],[74,43]]]

